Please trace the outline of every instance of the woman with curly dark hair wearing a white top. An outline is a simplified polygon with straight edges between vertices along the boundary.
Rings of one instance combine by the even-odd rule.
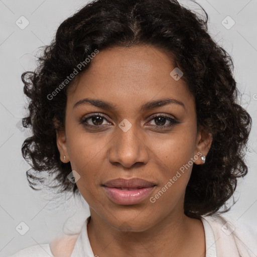
[[[221,215],[247,174],[251,118],[207,20],[175,0],[98,0],[60,25],[22,76],[22,153],[32,188],[56,174],[90,216],[80,234],[20,254],[257,254],[255,231]]]

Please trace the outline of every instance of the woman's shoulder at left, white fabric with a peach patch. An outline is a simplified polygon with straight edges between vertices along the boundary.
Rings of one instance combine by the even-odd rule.
[[[50,243],[32,245],[9,257],[70,257],[78,235],[65,235]]]

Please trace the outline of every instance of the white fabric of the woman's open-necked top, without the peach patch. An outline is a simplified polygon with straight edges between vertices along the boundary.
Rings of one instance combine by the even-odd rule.
[[[94,257],[85,220],[76,240],[71,257]],[[206,257],[257,257],[257,229],[249,224],[240,223],[232,218],[203,216],[201,218],[205,232]],[[18,251],[9,257],[54,257],[50,244],[33,245]]]

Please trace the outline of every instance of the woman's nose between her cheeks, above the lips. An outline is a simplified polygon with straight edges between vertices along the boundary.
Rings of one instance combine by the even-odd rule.
[[[149,160],[149,149],[143,132],[140,133],[135,124],[126,132],[117,127],[108,158],[110,163],[120,164],[125,168],[146,164]]]

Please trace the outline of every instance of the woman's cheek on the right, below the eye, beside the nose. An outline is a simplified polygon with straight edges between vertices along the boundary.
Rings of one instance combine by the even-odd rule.
[[[195,134],[196,130],[184,128],[152,144],[153,157],[161,167],[161,187],[165,187],[163,191],[166,195],[169,192],[173,196],[181,194],[187,186],[193,166]]]

